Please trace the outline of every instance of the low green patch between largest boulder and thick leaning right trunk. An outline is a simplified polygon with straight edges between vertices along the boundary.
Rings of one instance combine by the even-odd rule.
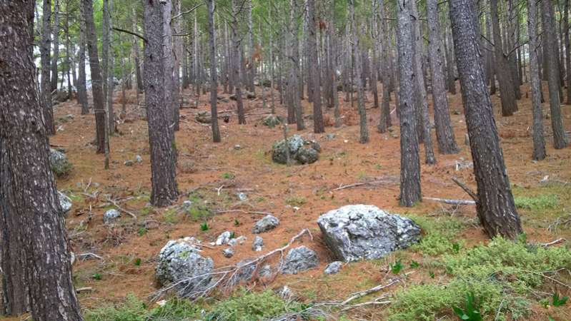
[[[437,256],[445,253],[457,253],[464,246],[463,240],[455,240],[464,228],[464,223],[455,218],[408,215],[422,228],[422,238],[411,249],[423,255]]]

